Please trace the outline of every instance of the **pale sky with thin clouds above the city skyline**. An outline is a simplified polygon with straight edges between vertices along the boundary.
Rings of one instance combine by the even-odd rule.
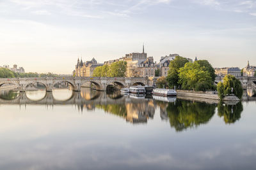
[[[256,65],[256,0],[0,0],[0,66],[71,74],[125,53]]]

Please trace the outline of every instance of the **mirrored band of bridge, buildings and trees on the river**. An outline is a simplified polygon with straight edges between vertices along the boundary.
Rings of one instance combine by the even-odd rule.
[[[26,93],[2,91],[0,104],[72,104],[78,111],[92,111],[95,108],[106,113],[124,118],[132,124],[145,124],[153,119],[155,111],[159,108],[161,120],[170,122],[175,131],[207,124],[218,108],[218,116],[223,117],[226,124],[239,120],[243,111],[243,104],[209,104],[184,99],[157,97],[157,96],[123,96],[120,92],[106,93],[96,90],[82,89],[73,92],[70,89],[54,89],[53,92],[45,90],[27,90]],[[16,99],[16,100],[14,100]],[[13,101],[12,101],[13,100]],[[38,101],[38,102],[37,102]]]

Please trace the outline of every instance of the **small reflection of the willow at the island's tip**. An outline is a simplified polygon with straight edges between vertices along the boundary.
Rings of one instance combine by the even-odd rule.
[[[218,115],[219,117],[224,117],[226,124],[233,124],[241,118],[241,113],[243,111],[243,104],[241,101],[236,105],[228,105],[219,103],[218,104]]]

